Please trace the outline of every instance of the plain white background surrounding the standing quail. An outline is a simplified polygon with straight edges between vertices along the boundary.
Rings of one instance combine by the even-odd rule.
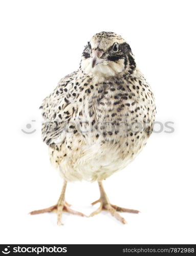
[[[1,243],[196,243],[195,1],[1,1]],[[93,218],[30,216],[57,202],[62,180],[40,138],[38,107],[76,70],[84,45],[100,31],[121,34],[153,88],[157,121],[136,160],[104,182],[111,202],[141,211],[122,225]],[[32,120],[36,120],[32,122]],[[26,124],[36,129],[31,135]],[[167,130],[167,129],[166,129]],[[96,183],[69,183],[66,199],[90,214]]]

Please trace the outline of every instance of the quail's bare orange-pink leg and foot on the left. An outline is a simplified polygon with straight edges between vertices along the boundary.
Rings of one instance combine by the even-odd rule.
[[[84,214],[82,214],[79,211],[72,210],[70,208],[71,204],[68,204],[64,200],[64,194],[66,192],[66,187],[67,187],[67,181],[65,181],[63,184],[62,191],[61,191],[61,194],[60,194],[57,204],[52,205],[45,209],[33,210],[33,211],[29,212],[29,214],[35,215],[35,214],[43,214],[44,212],[57,212],[57,225],[63,225],[61,222],[63,211],[69,212],[70,214],[80,215],[82,217],[85,216]]]

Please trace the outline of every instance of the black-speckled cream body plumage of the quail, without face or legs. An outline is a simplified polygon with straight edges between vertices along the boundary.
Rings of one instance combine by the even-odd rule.
[[[94,38],[103,41],[101,34]],[[119,40],[126,44],[114,35],[113,41]],[[43,141],[49,145],[52,164],[68,181],[105,179],[125,167],[146,144],[155,118],[153,93],[131,51],[124,62],[122,73],[101,76],[100,81],[80,65],[42,103]],[[131,127],[134,122],[146,125],[138,132]]]

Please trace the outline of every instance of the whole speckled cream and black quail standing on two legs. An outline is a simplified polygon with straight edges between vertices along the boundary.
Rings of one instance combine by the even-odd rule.
[[[138,213],[110,203],[102,181],[126,167],[142,150],[155,120],[153,92],[138,69],[128,43],[113,32],[95,34],[85,46],[79,69],[62,78],[42,109],[42,139],[52,165],[63,177],[57,204],[31,214],[57,211],[84,216],[65,201],[71,181],[97,181],[100,198],[93,204],[126,223],[118,211]]]

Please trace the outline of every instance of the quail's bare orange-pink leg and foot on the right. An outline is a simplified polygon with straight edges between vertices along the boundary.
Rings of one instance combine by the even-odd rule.
[[[93,202],[92,205],[96,204],[96,203],[100,203],[100,206],[97,210],[95,210],[94,212],[92,212],[92,214],[89,217],[92,217],[96,214],[99,214],[99,212],[101,212],[102,210],[107,210],[111,213],[112,216],[114,216],[117,220],[119,220],[120,222],[122,222],[123,224],[126,224],[126,221],[124,218],[122,218],[117,211],[121,211],[121,212],[131,212],[134,214],[138,214],[139,210],[133,210],[133,209],[127,209],[127,208],[122,208],[119,207],[117,205],[111,204],[109,199],[107,198],[107,195],[105,193],[105,190],[103,188],[103,184],[101,181],[98,182],[99,184],[99,190],[100,190],[100,199]]]

